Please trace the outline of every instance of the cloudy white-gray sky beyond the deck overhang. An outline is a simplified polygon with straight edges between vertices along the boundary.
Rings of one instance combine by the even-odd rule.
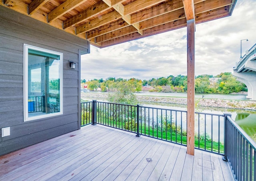
[[[108,77],[149,80],[187,74],[187,31],[181,28],[106,48],[91,45],[82,55],[81,79]],[[237,0],[232,16],[197,24],[195,74],[233,72],[256,43],[256,0]]]

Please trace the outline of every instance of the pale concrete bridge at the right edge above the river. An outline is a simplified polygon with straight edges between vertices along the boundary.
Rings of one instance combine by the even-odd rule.
[[[256,100],[256,44],[246,51],[233,70],[236,80],[244,83],[248,89],[246,98]]]

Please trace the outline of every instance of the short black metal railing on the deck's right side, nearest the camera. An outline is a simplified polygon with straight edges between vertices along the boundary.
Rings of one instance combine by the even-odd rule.
[[[225,114],[225,155],[238,181],[256,181],[256,144]]]

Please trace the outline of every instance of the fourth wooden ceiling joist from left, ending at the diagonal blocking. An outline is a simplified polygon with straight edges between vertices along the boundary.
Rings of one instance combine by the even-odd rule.
[[[100,16],[99,18],[96,18],[86,24],[78,26],[76,28],[76,34],[80,34],[80,33],[86,32],[86,31],[93,30],[100,26],[104,26],[106,24],[114,22],[115,20],[118,20],[120,18],[122,18],[122,16],[118,12],[112,11],[112,12],[110,12],[108,14],[104,14],[103,16]]]

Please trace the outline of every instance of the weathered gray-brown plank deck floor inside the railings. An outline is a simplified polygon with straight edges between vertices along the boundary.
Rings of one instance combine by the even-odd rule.
[[[148,161],[147,161],[148,159]],[[206,151],[88,125],[0,157],[0,180],[232,181],[227,162]]]

